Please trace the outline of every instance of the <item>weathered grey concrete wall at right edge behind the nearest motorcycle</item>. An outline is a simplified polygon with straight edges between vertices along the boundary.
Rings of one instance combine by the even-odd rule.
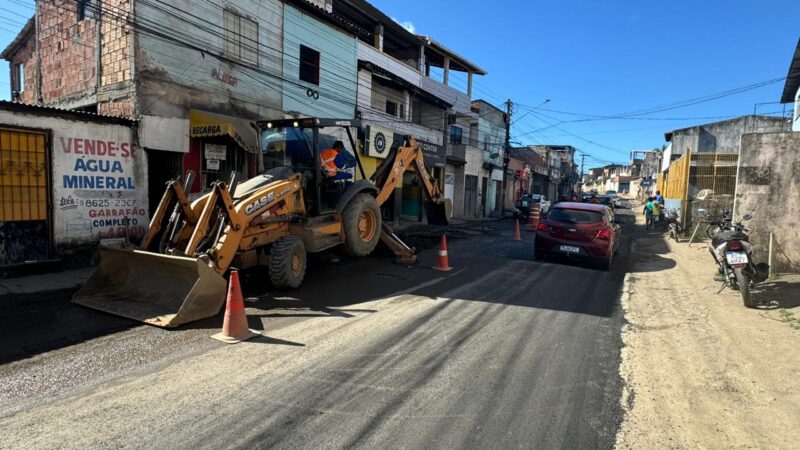
[[[757,262],[772,232],[775,269],[800,271],[800,133],[745,134],[739,163],[735,220],[753,216],[745,224]]]

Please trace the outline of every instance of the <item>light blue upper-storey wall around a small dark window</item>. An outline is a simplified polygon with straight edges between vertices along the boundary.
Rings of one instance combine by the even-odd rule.
[[[352,118],[356,108],[356,38],[291,6],[283,14],[283,109],[324,118]],[[300,80],[300,45],[320,52],[319,85]],[[309,97],[308,89],[319,92]]]

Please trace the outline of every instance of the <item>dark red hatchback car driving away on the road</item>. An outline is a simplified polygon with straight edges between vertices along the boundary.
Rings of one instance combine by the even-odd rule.
[[[536,229],[535,257],[596,261],[608,270],[619,247],[619,223],[603,205],[558,203]]]

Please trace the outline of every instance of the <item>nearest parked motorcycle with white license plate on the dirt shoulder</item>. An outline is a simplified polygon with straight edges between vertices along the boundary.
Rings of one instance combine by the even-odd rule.
[[[750,218],[744,217],[745,220]],[[709,251],[725,283],[722,289],[727,286],[738,290],[744,306],[752,308],[755,304],[750,297],[750,288],[767,279],[769,265],[753,262],[753,245],[748,232],[741,223],[733,223],[730,212],[725,213],[722,220],[710,222],[706,229],[706,234],[711,238]]]

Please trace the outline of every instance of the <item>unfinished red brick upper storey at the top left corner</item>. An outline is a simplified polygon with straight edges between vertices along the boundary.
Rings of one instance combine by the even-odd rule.
[[[11,66],[13,100],[134,115],[133,40],[124,24],[130,3],[104,3],[121,19],[97,20],[99,11],[87,1],[36,3],[36,15],[0,54]]]

